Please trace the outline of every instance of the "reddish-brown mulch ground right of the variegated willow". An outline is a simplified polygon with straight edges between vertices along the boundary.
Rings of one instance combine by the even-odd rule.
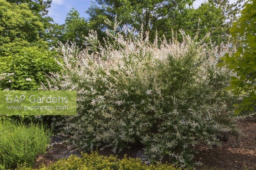
[[[256,169],[256,119],[239,121],[238,127],[242,130],[240,136],[228,135],[228,141],[220,146],[199,149],[196,160],[204,165],[197,169]]]

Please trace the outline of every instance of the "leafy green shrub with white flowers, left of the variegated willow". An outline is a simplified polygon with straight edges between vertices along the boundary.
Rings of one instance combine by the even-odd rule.
[[[37,47],[18,48],[0,56],[0,90],[38,90],[50,72],[60,71],[56,53]]]

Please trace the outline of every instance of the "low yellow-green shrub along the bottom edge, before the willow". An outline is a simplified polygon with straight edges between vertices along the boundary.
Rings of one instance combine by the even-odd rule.
[[[19,170],[32,170],[32,168],[18,168]],[[181,170],[173,165],[161,164],[147,166],[142,164],[140,159],[126,158],[117,159],[114,156],[102,156],[97,152],[84,154],[82,158],[70,156],[68,159],[61,159],[48,167],[41,167],[39,170],[84,170],[84,169],[122,169],[122,170]]]

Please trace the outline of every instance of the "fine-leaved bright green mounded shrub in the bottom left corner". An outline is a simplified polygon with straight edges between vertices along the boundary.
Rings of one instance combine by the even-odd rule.
[[[44,153],[49,142],[50,132],[43,126],[0,122],[0,168],[15,168],[25,162],[33,165],[36,155]]]

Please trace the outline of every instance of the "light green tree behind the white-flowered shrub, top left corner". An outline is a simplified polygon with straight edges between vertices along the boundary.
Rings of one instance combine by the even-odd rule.
[[[0,18],[0,52],[26,46],[48,48],[42,37],[44,23],[28,4],[0,0]]]

